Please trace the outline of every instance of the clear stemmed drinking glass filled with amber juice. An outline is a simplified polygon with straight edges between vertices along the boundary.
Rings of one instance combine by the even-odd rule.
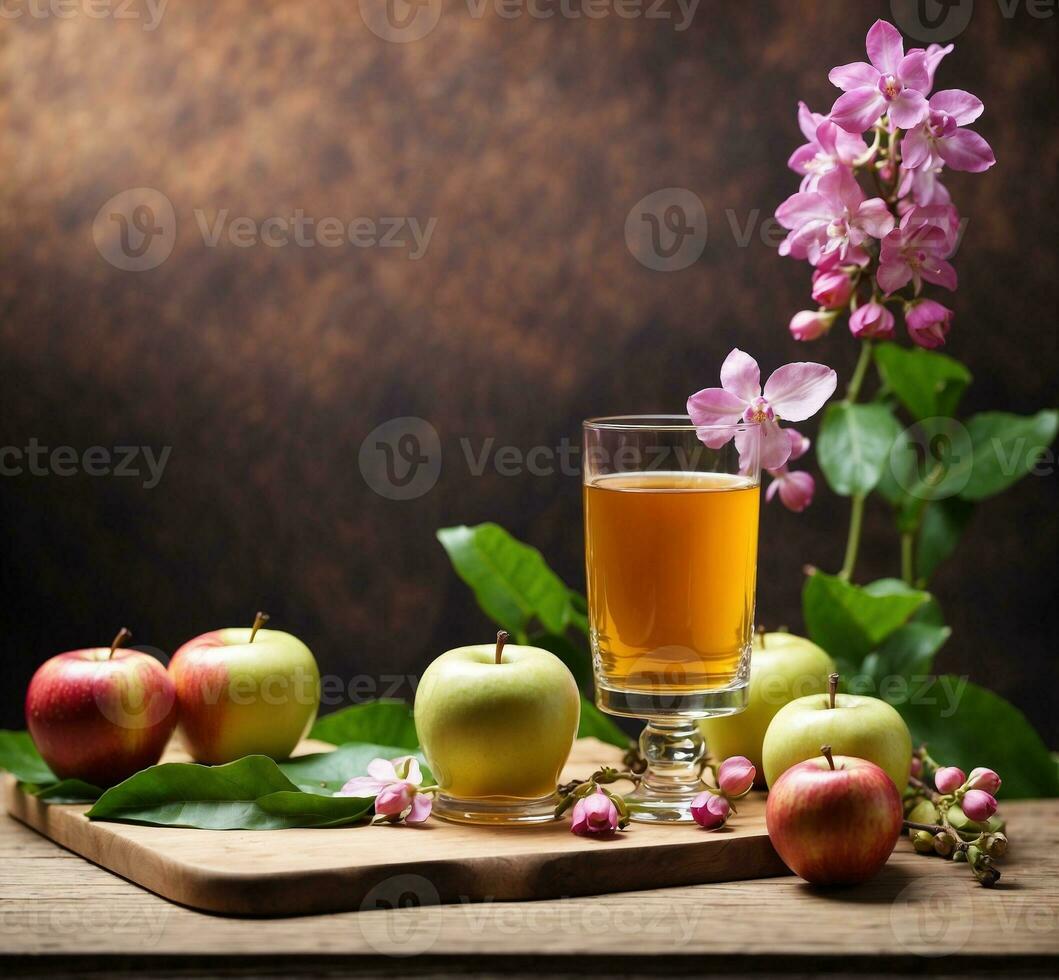
[[[645,718],[635,820],[690,820],[699,718],[747,707],[760,491],[756,423],[591,418],[585,559],[596,703]]]

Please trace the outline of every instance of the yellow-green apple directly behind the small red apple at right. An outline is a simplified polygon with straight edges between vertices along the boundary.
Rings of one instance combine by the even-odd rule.
[[[912,768],[912,735],[904,719],[876,697],[837,694],[838,685],[839,675],[831,674],[827,694],[800,697],[776,712],[761,746],[769,786],[829,745],[840,755],[874,762],[903,789]]]

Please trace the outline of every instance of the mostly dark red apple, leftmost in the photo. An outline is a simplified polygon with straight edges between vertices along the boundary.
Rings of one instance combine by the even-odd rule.
[[[154,657],[119,647],[70,651],[44,661],[25,693],[37,751],[60,779],[112,786],[152,766],[177,724],[173,682]]]

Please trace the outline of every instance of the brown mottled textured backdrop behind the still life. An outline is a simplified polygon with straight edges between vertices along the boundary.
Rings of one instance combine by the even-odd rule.
[[[671,8],[671,7],[670,7]],[[127,624],[172,651],[254,609],[324,671],[417,673],[489,635],[437,527],[495,519],[582,587],[574,478],[472,478],[461,438],[523,449],[578,438],[588,414],[680,410],[735,344],[767,370],[811,354],[848,376],[841,333],[786,333],[807,267],[742,224],[796,185],[801,95],[863,57],[886,3],[703,2],[671,21],[481,19],[448,2],[394,44],[356,4],[170,3],[138,21],[0,22],[0,445],[172,446],[161,483],[0,479],[0,725],[20,726],[37,663]],[[980,2],[939,87],[968,88],[999,165],[949,185],[970,219],[950,351],[970,409],[1055,399],[1056,21]],[[163,191],[173,254],[123,272],[92,242],[102,203]],[[682,186],[711,237],[676,273],[630,255],[643,195]],[[194,209],[258,219],[437,218],[399,250],[203,247]],[[373,494],[364,435],[397,415],[437,429],[444,468],[417,500]],[[814,427],[813,427],[814,428]],[[1053,744],[1054,480],[988,502],[935,580],[955,627],[940,666],[1020,705]],[[767,509],[759,619],[800,622],[800,569],[841,560],[847,510]],[[897,569],[881,505],[859,577]]]

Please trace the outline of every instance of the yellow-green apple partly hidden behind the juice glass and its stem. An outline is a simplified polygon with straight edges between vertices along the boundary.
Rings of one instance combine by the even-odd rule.
[[[700,721],[713,759],[743,755],[757,769],[754,785],[765,787],[761,743],[769,723],[784,705],[809,694],[823,694],[834,661],[805,637],[759,632],[750,655],[750,691],[744,711]]]

